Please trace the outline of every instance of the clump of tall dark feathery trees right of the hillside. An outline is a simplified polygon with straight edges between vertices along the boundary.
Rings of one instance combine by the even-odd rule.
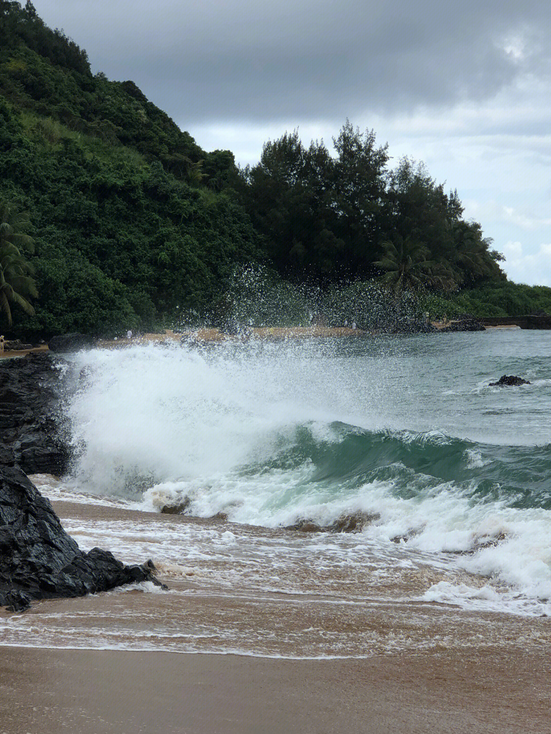
[[[328,285],[386,272],[394,288],[440,290],[505,278],[491,240],[423,165],[389,170],[387,146],[348,121],[334,144],[336,157],[323,142],[304,148],[295,131],[244,171],[247,212],[282,277]]]

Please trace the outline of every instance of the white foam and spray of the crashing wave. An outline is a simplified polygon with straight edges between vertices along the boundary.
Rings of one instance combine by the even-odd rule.
[[[437,356],[434,364],[439,364]],[[416,361],[407,346],[400,352],[387,342],[379,352],[366,347],[361,359],[319,344],[275,343],[82,353],[75,357],[76,374],[87,377],[81,378],[67,409],[81,454],[72,484],[65,490],[52,487],[52,493],[63,498],[68,490],[65,498],[72,501],[79,491],[94,493],[100,502],[115,496],[120,504],[150,511],[186,502],[192,515],[225,512],[233,522],[272,528],[301,517],[327,525],[343,513],[379,514],[357,542],[375,543],[382,558],[390,546],[432,554],[435,564],[442,553],[478,548],[472,555],[448,559],[510,584],[523,599],[513,605],[498,590],[498,600],[484,601],[535,613],[551,597],[548,510],[508,506],[499,484],[492,485],[492,499],[481,501],[465,482],[429,476],[430,466],[426,473],[415,473],[407,455],[404,461],[390,457],[388,476],[369,481],[357,478],[360,470],[354,481],[343,470],[338,476],[330,469],[320,476],[319,462],[312,458],[318,446],[343,443],[343,424],[352,434],[400,429],[402,444],[412,451],[425,445],[452,451],[450,435],[502,446],[536,438],[544,443],[547,414],[541,424],[529,422],[533,435],[522,421],[530,415],[527,406],[538,409],[550,379],[536,375],[531,391],[488,390],[490,377],[501,369],[495,363],[484,379],[466,381],[459,371],[434,377],[432,358],[429,352],[423,362]],[[496,418],[503,413],[508,421]],[[301,440],[313,448],[311,455],[297,459]],[[276,456],[284,459],[274,464]],[[474,473],[491,465],[484,448],[464,450],[462,468]],[[398,491],[398,475],[407,491]],[[73,529],[84,545],[92,542],[86,528]],[[139,559],[136,548],[144,548],[148,532],[143,529],[144,542],[132,537],[125,545],[124,534],[112,542]],[[178,532],[184,532],[181,526]],[[495,545],[489,545],[492,539]],[[239,539],[231,531],[225,540],[215,533],[213,542],[231,548]],[[170,539],[163,543],[163,562],[178,564],[169,556]],[[456,598],[472,603],[468,594]]]

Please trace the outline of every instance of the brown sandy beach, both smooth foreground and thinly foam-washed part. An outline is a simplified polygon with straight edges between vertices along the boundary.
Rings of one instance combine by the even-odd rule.
[[[197,553],[186,567],[159,564],[159,578],[169,592],[136,589],[34,603],[21,615],[0,611],[0,623],[9,620],[0,633],[6,645],[0,648],[2,734],[549,730],[547,619],[406,602],[404,593],[426,584],[426,569],[413,575],[397,572],[394,581],[386,582],[385,601],[362,601],[354,597],[354,589],[367,589],[367,570],[364,575],[358,570],[341,575],[338,594],[328,596],[324,562],[315,570],[309,562],[302,567],[296,565],[299,560],[289,559],[289,575],[297,578],[302,573],[304,588],[318,592],[269,592],[260,581],[269,578],[278,559],[269,554],[263,561],[258,544],[277,548],[282,539],[293,542],[296,534],[289,531],[238,528],[216,519],[136,512],[109,504],[54,501],[54,507],[81,542],[92,530],[101,530],[131,548],[134,528],[139,543],[150,544],[139,545],[138,553],[155,552],[165,532],[172,543],[184,538]],[[241,534],[250,558],[241,553],[207,557],[216,539],[228,532]],[[304,548],[306,541],[296,542]],[[351,539],[335,537],[332,542],[337,544],[335,555],[338,544]],[[258,567],[258,583],[251,574],[251,559]],[[281,583],[282,570],[279,573]],[[373,581],[380,586],[381,581]],[[318,631],[310,639],[318,625],[332,641],[316,642]],[[182,633],[192,631],[200,632],[207,645],[215,636],[219,642],[215,639],[214,644],[222,647],[225,633],[230,633],[241,639],[236,644],[251,644],[251,650],[261,645],[266,655],[221,655],[208,652],[208,647],[202,653],[186,653],[187,635]],[[23,646],[12,645],[9,634],[10,639],[22,639]],[[32,646],[33,639],[39,647]],[[327,656],[339,639],[341,646],[349,639],[354,652],[342,648],[344,657]],[[106,641],[112,649],[90,649]],[[397,641],[401,642],[396,645]],[[144,643],[159,650],[128,650],[128,645]],[[49,649],[40,647],[48,644]],[[171,644],[182,652],[162,649]],[[318,647],[310,650],[310,644]],[[67,646],[89,649],[59,649]],[[315,658],[316,649],[321,658]],[[310,659],[299,659],[304,653]]]

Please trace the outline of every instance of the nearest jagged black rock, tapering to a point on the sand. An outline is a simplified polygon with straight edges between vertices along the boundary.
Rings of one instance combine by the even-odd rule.
[[[0,606],[23,611],[34,599],[77,597],[152,581],[153,563],[125,566],[109,551],[84,553],[49,501],[17,466],[0,466]]]

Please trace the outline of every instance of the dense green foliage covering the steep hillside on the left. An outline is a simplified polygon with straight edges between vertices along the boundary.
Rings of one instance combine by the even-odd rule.
[[[225,193],[232,153],[209,156],[134,84],[92,76],[29,6],[0,1],[0,197],[32,215],[40,292],[18,333],[145,329],[207,309],[257,254]]]

